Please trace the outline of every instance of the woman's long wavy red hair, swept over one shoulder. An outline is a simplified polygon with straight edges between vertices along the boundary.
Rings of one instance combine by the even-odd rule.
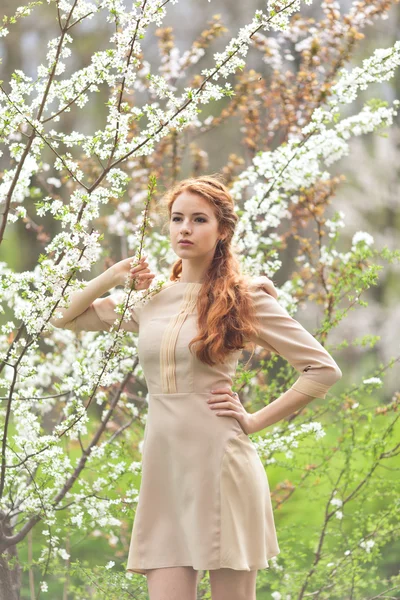
[[[209,203],[218,219],[219,240],[210,268],[197,299],[198,335],[195,354],[209,365],[223,363],[230,352],[244,349],[252,334],[257,333],[256,318],[248,291],[250,278],[240,272],[240,263],[231,246],[238,222],[234,201],[218,176],[203,175],[176,183],[163,197],[162,204],[171,219],[172,205],[184,191],[198,194]],[[172,267],[171,281],[179,281],[182,259]],[[253,346],[254,347],[254,346]]]

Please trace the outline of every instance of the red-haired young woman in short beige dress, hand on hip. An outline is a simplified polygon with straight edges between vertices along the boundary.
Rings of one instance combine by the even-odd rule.
[[[255,600],[258,569],[279,554],[268,479],[255,433],[325,398],[342,373],[277,301],[265,276],[240,272],[231,240],[238,220],[216,177],[179,182],[165,196],[170,281],[123,327],[137,332],[149,390],[140,497],[127,570],[147,575],[150,600],[195,600],[208,570],[213,600]],[[109,330],[126,275],[147,289],[144,258],[120,261],[71,294],[57,327]],[[250,414],[232,390],[243,348],[260,345],[299,373],[277,400]],[[254,347],[254,346],[253,346]]]

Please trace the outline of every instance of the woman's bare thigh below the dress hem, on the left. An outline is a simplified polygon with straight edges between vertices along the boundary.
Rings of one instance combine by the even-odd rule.
[[[149,600],[196,600],[197,574],[192,567],[149,569]]]

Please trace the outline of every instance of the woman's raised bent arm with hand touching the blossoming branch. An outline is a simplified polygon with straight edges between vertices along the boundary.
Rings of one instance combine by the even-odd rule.
[[[91,279],[82,290],[76,290],[69,296],[67,308],[58,308],[62,318],[51,317],[50,323],[54,327],[71,329],[72,331],[109,331],[113,322],[120,315],[114,312],[114,307],[119,301],[119,294],[112,294],[100,298],[116,285],[124,285],[126,275],[137,277],[134,289],[147,289],[155,276],[149,274],[148,265],[143,256],[136,267],[131,268],[131,258],[126,258],[112,265],[104,273]],[[118,298],[117,298],[118,296]],[[132,314],[134,318],[135,315]],[[135,320],[124,321],[122,327],[130,331],[138,331]]]

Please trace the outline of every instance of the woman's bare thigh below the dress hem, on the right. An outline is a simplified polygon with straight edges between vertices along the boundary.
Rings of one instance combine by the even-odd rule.
[[[256,600],[257,570],[215,569],[209,574],[212,600]]]

